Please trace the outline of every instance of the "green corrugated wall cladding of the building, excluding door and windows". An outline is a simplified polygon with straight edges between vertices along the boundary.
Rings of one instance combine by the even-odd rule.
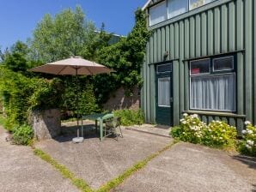
[[[182,111],[189,111],[189,62],[184,60],[238,51],[236,115],[208,113],[201,117],[206,122],[226,120],[240,130],[244,120],[256,123],[255,11],[256,1],[222,0],[150,28],[142,71],[142,108],[147,122],[155,123],[154,63],[163,61],[165,51],[169,52],[167,60],[174,60],[174,125],[179,124]]]

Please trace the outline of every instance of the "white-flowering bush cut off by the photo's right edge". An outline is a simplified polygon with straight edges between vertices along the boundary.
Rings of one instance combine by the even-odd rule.
[[[249,154],[256,157],[256,125],[249,121],[245,122],[247,129],[242,131],[243,140],[240,143],[239,150],[241,153]]]

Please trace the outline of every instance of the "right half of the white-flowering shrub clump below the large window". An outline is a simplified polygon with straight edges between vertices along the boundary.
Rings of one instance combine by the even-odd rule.
[[[236,128],[222,121],[212,121],[203,131],[202,144],[209,147],[235,148]]]

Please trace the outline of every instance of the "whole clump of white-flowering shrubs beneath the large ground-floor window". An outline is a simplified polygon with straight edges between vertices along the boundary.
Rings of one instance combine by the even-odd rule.
[[[235,148],[236,129],[221,121],[212,121],[208,125],[198,115],[180,119],[180,127],[171,129],[170,134],[181,141],[200,143],[209,147]]]

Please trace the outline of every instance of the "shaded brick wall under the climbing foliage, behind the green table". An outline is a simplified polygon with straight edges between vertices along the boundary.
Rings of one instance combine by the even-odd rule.
[[[132,96],[126,96],[123,87],[120,87],[112,94],[107,103],[103,105],[104,110],[113,111],[120,109],[138,110],[140,106],[140,96],[137,87],[133,89]]]

